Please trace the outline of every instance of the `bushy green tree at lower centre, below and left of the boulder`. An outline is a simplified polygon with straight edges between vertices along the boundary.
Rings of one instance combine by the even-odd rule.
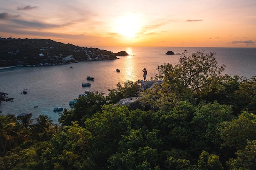
[[[117,152],[121,135],[130,128],[132,120],[126,106],[103,105],[102,110],[85,121],[85,129],[92,133],[89,155],[100,167]]]

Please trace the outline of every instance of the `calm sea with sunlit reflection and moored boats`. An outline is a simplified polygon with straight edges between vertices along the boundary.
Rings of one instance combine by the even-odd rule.
[[[8,93],[13,101],[2,102],[2,115],[32,113],[32,119],[47,115],[58,124],[59,112],[54,108],[71,109],[70,100],[85,91],[98,91],[108,95],[108,89],[116,89],[117,83],[143,79],[143,69],[148,71],[147,80],[158,73],[157,66],[164,63],[178,64],[184,50],[188,53],[216,52],[218,65],[225,64],[223,74],[250,78],[256,75],[256,48],[209,48],[209,47],[93,47],[112,51],[126,51],[129,55],[117,60],[89,61],[55,66],[29,66],[0,69],[0,92]],[[173,51],[176,55],[165,55]],[[71,68],[72,67],[72,68]],[[117,72],[116,69],[120,72]],[[94,81],[87,80],[94,77]],[[82,86],[90,82],[91,86]],[[27,94],[22,92],[26,90]],[[35,120],[34,120],[35,121]]]

